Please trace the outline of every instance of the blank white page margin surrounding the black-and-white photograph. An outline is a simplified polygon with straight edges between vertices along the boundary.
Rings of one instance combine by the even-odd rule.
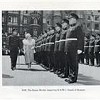
[[[46,1],[34,1],[21,0],[14,2],[0,3],[0,10],[100,10],[100,2],[66,2],[65,0],[57,0],[55,2]],[[68,0],[67,0],[68,1]],[[1,20],[0,12],[0,21]],[[0,23],[2,26],[2,23]],[[2,33],[2,27],[0,27]],[[2,34],[0,35],[0,52],[2,51]],[[100,86],[2,86],[2,55],[0,55],[0,100],[1,99],[87,99],[87,100],[99,100],[100,99]],[[27,91],[22,92],[22,89],[85,89],[85,91],[60,91],[60,92],[34,92]]]

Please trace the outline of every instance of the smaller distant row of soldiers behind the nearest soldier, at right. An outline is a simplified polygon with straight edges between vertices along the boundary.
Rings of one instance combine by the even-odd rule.
[[[81,61],[85,58],[86,65],[100,67],[100,34],[87,35],[84,41],[84,57]]]

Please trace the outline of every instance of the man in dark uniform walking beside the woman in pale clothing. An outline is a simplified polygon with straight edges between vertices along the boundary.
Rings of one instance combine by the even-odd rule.
[[[20,39],[17,36],[17,30],[13,29],[12,35],[9,36],[9,50],[10,50],[11,69],[12,70],[16,69],[16,61],[17,61],[19,49],[21,49]]]

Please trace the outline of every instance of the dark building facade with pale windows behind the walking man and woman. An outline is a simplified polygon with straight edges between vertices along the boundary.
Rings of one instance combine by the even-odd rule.
[[[17,29],[21,39],[25,32],[37,38],[42,32],[42,11],[2,11],[2,46],[8,48],[8,36]]]

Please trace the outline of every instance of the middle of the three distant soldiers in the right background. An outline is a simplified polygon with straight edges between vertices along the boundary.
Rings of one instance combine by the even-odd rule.
[[[89,42],[89,65],[94,66],[94,45],[95,45],[95,36],[92,34],[90,36]]]

